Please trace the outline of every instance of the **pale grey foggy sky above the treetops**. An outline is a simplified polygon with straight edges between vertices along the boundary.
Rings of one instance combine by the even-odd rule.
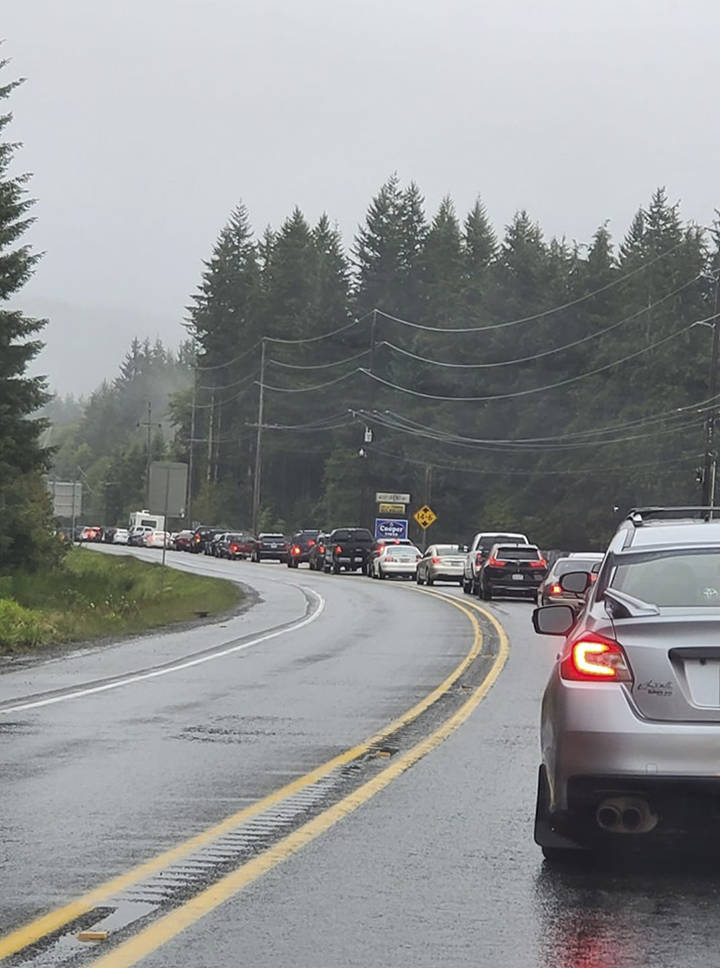
[[[49,315],[63,393],[180,321],[242,199],[349,245],[388,175],[429,214],[480,195],[548,235],[616,238],[661,184],[720,206],[717,0],[2,0],[9,129],[46,255],[18,304]]]

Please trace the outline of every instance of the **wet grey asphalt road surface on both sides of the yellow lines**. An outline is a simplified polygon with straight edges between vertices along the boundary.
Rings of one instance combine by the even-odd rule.
[[[301,621],[185,671],[0,716],[0,924],[188,836],[382,726],[467,651],[455,609],[351,576],[182,556],[263,601],[179,636],[0,677],[7,696],[68,688]],[[453,591],[459,599],[458,591]],[[552,870],[532,842],[540,695],[556,644],[531,606],[488,606],[510,658],[468,722],[354,814],[151,954],[159,966],[720,965],[709,861]],[[53,685],[55,683],[55,685]]]

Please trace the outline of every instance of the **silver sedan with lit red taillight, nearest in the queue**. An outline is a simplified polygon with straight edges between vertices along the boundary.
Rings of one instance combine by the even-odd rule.
[[[587,600],[533,613],[565,637],[542,703],[536,842],[548,859],[720,843],[720,512],[634,511],[597,581],[560,581]]]

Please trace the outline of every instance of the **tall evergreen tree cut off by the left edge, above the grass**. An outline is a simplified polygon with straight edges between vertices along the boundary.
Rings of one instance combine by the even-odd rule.
[[[0,70],[7,61],[0,61]],[[0,86],[0,102],[20,82]],[[12,114],[0,115],[0,138]],[[0,568],[34,567],[50,546],[50,507],[40,481],[48,455],[39,436],[43,419],[33,416],[47,401],[45,381],[28,377],[42,344],[44,321],[31,319],[9,301],[32,276],[38,256],[22,236],[33,219],[28,175],[10,175],[18,145],[0,140]],[[57,544],[57,542],[55,542]]]

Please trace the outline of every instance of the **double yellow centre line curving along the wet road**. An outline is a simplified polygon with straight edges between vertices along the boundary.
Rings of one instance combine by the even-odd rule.
[[[272,870],[272,868],[276,867],[278,864],[281,864],[293,854],[296,854],[306,844],[309,844],[312,840],[315,840],[316,837],[319,837],[322,833],[329,830],[330,827],[334,826],[336,823],[338,823],[338,821],[347,817],[359,806],[366,803],[377,793],[383,790],[389,783],[392,783],[393,780],[409,769],[414,763],[417,763],[418,760],[420,760],[423,756],[426,756],[427,753],[442,743],[443,740],[445,740],[458,728],[458,726],[465,722],[475,707],[485,698],[493,683],[502,671],[508,656],[509,646],[507,635],[503,627],[490,612],[486,611],[484,608],[481,608],[479,605],[472,604],[469,608],[465,604],[461,604],[452,598],[436,592],[426,591],[422,592],[421,594],[429,594],[433,595],[434,597],[441,598],[443,601],[448,602],[455,608],[460,609],[460,611],[463,612],[470,620],[474,632],[472,648],[462,662],[436,689],[433,689],[431,693],[413,706],[412,709],[409,709],[407,712],[403,713],[402,716],[390,723],[381,732],[371,736],[364,743],[361,743],[352,749],[346,750],[339,756],[328,760],[322,766],[319,766],[304,776],[293,780],[291,783],[282,787],[280,790],[277,790],[275,793],[263,797],[262,800],[259,800],[252,806],[246,807],[244,810],[233,814],[227,819],[221,821],[221,823],[215,824],[195,837],[191,837],[189,840],[186,840],[184,843],[179,844],[170,850],[163,851],[163,853],[158,854],[156,857],[146,861],[144,864],[140,864],[127,873],[121,874],[119,877],[115,877],[112,880],[107,881],[105,884],[83,895],[76,901],[73,901],[61,908],[57,908],[55,911],[49,912],[30,924],[19,928],[17,931],[13,931],[5,938],[0,939],[0,958],[8,957],[9,955],[17,953],[28,945],[37,943],[42,938],[60,930],[62,927],[69,924],[76,918],[87,914],[88,911],[91,911],[94,907],[97,907],[98,905],[107,901],[109,897],[126,890],[152,874],[158,873],[163,868],[169,866],[170,864],[176,863],[183,857],[195,852],[199,848],[207,846],[224,833],[232,830],[238,824],[250,819],[253,816],[256,816],[257,814],[263,813],[273,804],[279,803],[288,796],[311,786],[331,770],[349,763],[352,760],[357,759],[359,756],[367,753],[370,749],[377,746],[378,743],[385,740],[392,733],[417,719],[418,716],[425,712],[425,710],[427,710],[440,698],[440,696],[444,695],[455,684],[455,682],[457,682],[470,664],[480,655],[482,651],[483,637],[480,624],[475,614],[473,614],[473,611],[475,611],[482,614],[483,617],[495,627],[499,636],[500,646],[492,666],[490,667],[488,674],[485,676],[482,683],[472,692],[468,699],[455,713],[453,713],[452,716],[445,720],[424,740],[417,743],[407,752],[397,756],[396,759],[394,759],[381,773],[373,777],[373,779],[368,780],[362,786],[358,787],[358,789],[353,793],[348,794],[338,803],[334,804],[332,807],[329,807],[317,817],[314,817],[297,830],[288,834],[282,840],[278,841],[277,844],[268,848],[268,850],[266,850],[264,853],[248,861],[246,864],[243,864],[242,867],[232,871],[230,874],[225,875],[225,877],[223,877],[221,880],[195,895],[185,904],[170,911],[164,917],[159,918],[157,921],[140,931],[137,935],[134,935],[127,941],[118,945],[117,948],[114,948],[108,952],[108,954],[101,956],[97,961],[93,962],[94,968],[125,968],[125,966],[136,964],[152,951],[170,941],[189,925],[198,921],[206,914],[209,914],[211,911],[219,907],[239,891],[243,890],[243,888],[247,887],[253,881],[256,881],[268,871]],[[471,611],[471,608],[473,611]]]

